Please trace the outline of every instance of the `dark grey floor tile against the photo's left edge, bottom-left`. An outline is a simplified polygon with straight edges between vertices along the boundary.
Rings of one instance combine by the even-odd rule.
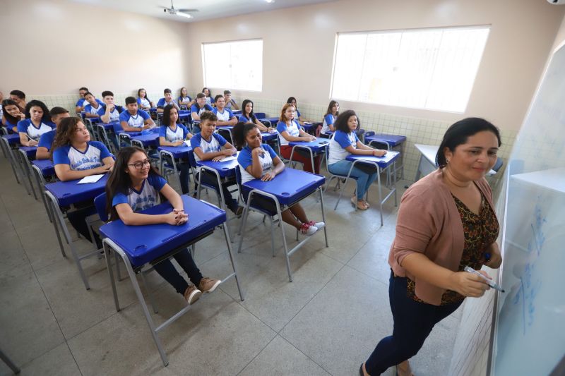
[[[0,306],[0,346],[17,364],[64,343],[35,274],[0,280]]]

